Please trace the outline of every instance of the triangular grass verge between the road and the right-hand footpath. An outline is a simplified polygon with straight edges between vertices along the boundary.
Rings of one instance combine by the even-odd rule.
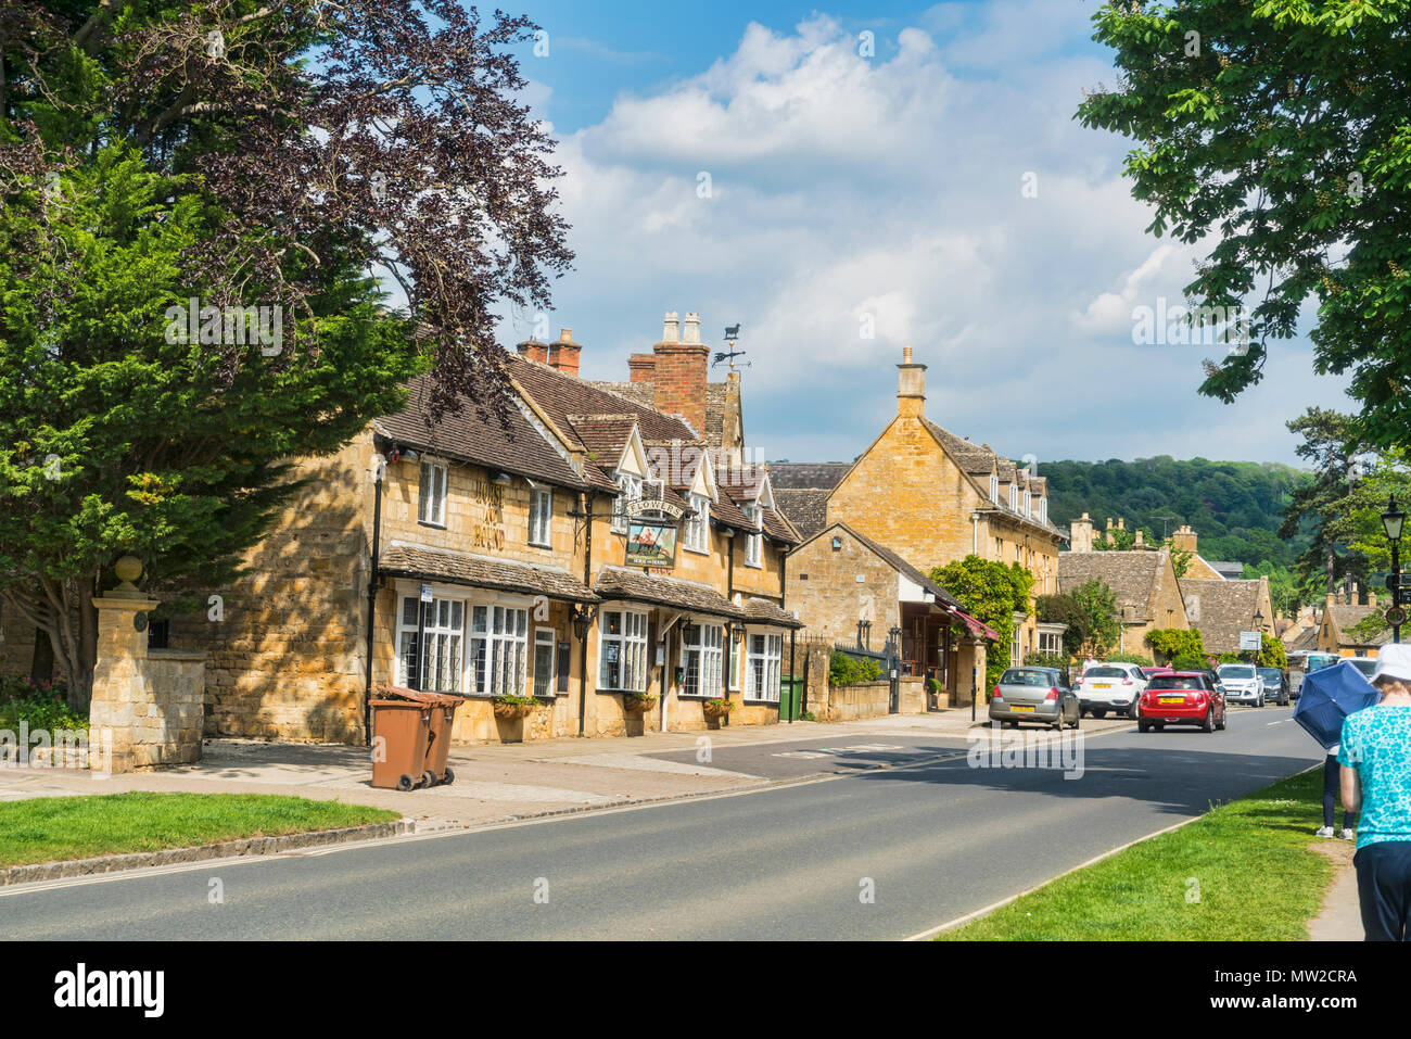
[[[937,942],[1297,942],[1333,867],[1312,850],[1322,769],[1060,877]]]

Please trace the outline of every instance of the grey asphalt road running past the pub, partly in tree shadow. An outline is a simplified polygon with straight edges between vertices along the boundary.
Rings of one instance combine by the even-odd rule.
[[[1101,735],[1078,779],[933,755],[755,793],[0,888],[0,919],[8,940],[900,939],[1316,764],[1290,716]]]

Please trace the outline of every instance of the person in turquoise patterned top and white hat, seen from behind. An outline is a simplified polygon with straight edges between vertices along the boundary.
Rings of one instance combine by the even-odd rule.
[[[1342,723],[1342,806],[1357,826],[1357,901],[1369,942],[1405,942],[1411,925],[1411,645],[1384,645],[1371,683],[1381,703]]]

